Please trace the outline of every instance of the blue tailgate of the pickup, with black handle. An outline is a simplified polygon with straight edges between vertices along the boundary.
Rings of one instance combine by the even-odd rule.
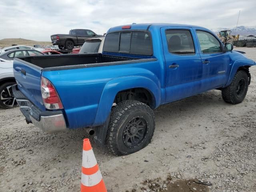
[[[24,60],[14,58],[13,72],[18,89],[41,110],[46,110],[41,96],[42,68]]]

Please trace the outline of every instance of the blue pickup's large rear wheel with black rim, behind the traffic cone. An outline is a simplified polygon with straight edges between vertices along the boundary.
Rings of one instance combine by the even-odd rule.
[[[137,152],[148,145],[155,129],[153,110],[136,100],[112,108],[106,144],[115,155]]]

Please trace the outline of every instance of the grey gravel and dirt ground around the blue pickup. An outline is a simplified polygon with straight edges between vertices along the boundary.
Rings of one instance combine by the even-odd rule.
[[[236,50],[256,60],[256,48]],[[256,67],[250,72],[241,104],[227,104],[212,90],[156,109],[153,140],[135,154],[117,157],[94,147],[107,188],[255,192]],[[85,137],[84,130],[46,134],[27,125],[18,108],[0,110],[0,191],[80,191]]]

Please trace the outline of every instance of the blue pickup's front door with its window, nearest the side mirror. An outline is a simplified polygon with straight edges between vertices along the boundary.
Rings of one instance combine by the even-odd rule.
[[[228,80],[230,57],[224,52],[224,46],[214,34],[199,28],[194,28],[194,30],[202,59],[204,90],[220,88]]]

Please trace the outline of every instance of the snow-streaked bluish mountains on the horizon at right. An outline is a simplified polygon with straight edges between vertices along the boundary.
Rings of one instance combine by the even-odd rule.
[[[211,29],[212,32],[218,33],[223,30],[228,30],[230,28],[217,28],[217,29]],[[238,26],[237,29],[234,27],[231,30],[231,34],[234,35],[236,32],[236,35],[254,35],[256,36],[256,26]]]

